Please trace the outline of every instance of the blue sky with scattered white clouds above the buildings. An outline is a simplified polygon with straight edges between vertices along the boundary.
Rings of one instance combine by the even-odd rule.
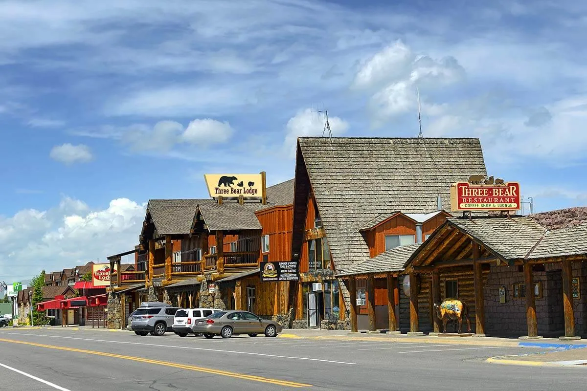
[[[1,2],[0,279],[131,248],[206,172],[292,178],[317,107],[414,137],[416,88],[426,137],[481,138],[537,211],[586,205],[587,4],[359,4]]]

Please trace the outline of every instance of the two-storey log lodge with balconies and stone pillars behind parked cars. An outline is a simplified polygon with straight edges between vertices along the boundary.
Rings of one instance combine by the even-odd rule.
[[[286,314],[289,285],[261,283],[259,263],[289,260],[293,185],[269,186],[262,199],[243,202],[150,200],[140,244],[109,257],[110,270],[120,270],[121,257],[136,254],[136,271],[112,273],[109,327],[126,327],[144,301]]]

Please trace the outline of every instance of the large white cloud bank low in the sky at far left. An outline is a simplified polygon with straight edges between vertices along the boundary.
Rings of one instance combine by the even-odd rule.
[[[43,268],[62,270],[132,249],[139,238],[146,204],[126,198],[105,209],[63,198],[45,211],[21,210],[0,217],[0,280],[32,277]],[[12,280],[12,277],[8,278]]]

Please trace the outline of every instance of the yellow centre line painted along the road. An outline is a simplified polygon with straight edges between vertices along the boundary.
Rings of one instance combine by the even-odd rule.
[[[309,384],[289,382],[288,380],[263,378],[261,376],[245,375],[244,373],[228,372],[226,370],[203,368],[201,366],[180,364],[180,363],[174,363],[174,362],[168,362],[168,361],[151,360],[151,359],[147,359],[147,358],[140,358],[140,357],[134,357],[134,356],[124,356],[124,355],[119,355],[119,354],[114,354],[114,353],[104,353],[104,352],[97,352],[97,351],[89,351],[89,350],[85,350],[85,349],[66,348],[65,346],[36,344],[35,342],[16,341],[14,339],[4,339],[4,338],[0,338],[0,342],[11,342],[13,344],[38,346],[39,348],[58,349],[60,351],[87,353],[87,354],[92,354],[92,355],[96,355],[96,356],[120,358],[120,359],[125,359],[125,360],[130,360],[130,361],[137,361],[137,362],[144,362],[144,363],[149,363],[149,364],[170,366],[172,368],[195,370],[197,372],[205,372],[205,373],[211,373],[213,375],[228,376],[230,378],[253,380],[255,382],[262,382],[262,383],[271,383],[271,384],[279,385],[279,386],[296,387],[296,388],[312,387],[312,385],[309,385]]]

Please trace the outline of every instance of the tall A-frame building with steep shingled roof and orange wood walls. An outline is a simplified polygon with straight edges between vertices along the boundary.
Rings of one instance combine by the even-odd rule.
[[[450,205],[450,184],[470,172],[485,173],[477,139],[301,137],[296,153],[291,253],[301,275],[294,327],[356,329],[353,311],[384,311],[387,276],[375,282],[375,276],[349,279],[342,273],[425,240],[450,216],[443,209]],[[390,279],[397,292],[397,274]],[[357,294],[366,301],[359,308]],[[352,319],[355,325],[349,325]],[[389,327],[387,317],[380,319]]]

